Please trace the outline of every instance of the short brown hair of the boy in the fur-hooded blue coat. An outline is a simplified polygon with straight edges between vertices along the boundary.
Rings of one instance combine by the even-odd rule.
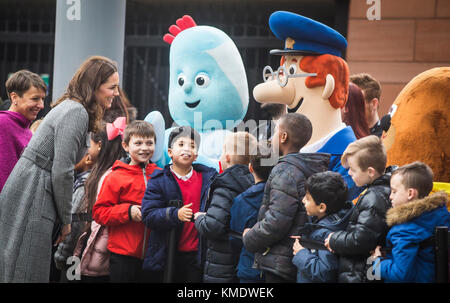
[[[416,161],[396,169],[392,176],[400,175],[403,186],[417,189],[419,199],[425,198],[433,189],[433,171],[423,162]]]

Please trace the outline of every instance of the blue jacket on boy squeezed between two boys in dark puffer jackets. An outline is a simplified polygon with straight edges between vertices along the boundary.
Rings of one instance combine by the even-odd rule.
[[[234,198],[233,206],[231,206],[230,229],[240,235],[246,228],[252,228],[258,220],[258,212],[261,207],[264,186],[266,182],[259,182],[253,185],[245,192]],[[241,280],[260,281],[261,271],[252,268],[255,260],[255,254],[249,252],[243,247],[242,240],[231,237],[232,244],[241,250],[239,263],[237,266],[237,277]]]

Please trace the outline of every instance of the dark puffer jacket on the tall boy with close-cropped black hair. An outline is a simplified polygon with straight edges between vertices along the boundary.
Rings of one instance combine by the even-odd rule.
[[[325,153],[288,154],[272,169],[264,190],[258,222],[243,242],[255,253],[255,263],[263,271],[296,281],[297,268],[292,264],[290,236],[299,235],[307,222],[305,207],[306,179],[328,169],[330,155]]]

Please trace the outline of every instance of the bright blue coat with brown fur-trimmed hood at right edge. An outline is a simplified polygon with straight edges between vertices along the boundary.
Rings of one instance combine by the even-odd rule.
[[[419,248],[419,243],[433,236],[436,226],[450,228],[447,201],[445,192],[437,192],[387,212],[386,222],[392,226],[387,247],[392,251],[381,261],[380,273],[385,282],[435,281],[434,248]]]

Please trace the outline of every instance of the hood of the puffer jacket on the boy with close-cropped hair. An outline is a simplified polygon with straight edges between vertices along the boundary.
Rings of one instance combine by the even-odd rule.
[[[281,157],[278,163],[287,162],[297,166],[301,171],[311,174],[328,170],[330,154],[326,153],[292,153]]]

